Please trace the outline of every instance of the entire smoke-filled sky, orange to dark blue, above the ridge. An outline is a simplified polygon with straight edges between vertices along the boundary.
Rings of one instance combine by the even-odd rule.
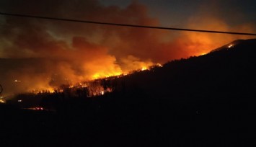
[[[0,12],[256,32],[253,0],[1,0]],[[247,38],[252,37],[0,16],[0,58],[11,58],[8,65],[1,63],[0,84],[13,87],[9,83],[18,79],[27,83],[23,91],[43,89],[53,86],[56,75],[70,82],[117,75]]]

